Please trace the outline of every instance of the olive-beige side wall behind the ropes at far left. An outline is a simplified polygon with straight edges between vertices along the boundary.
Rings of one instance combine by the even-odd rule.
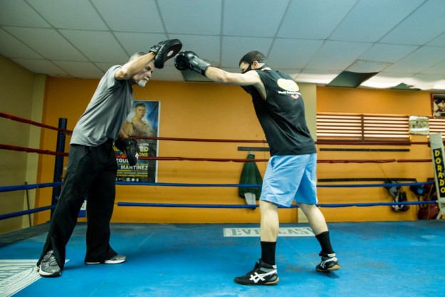
[[[36,75],[0,55],[0,111],[41,122],[45,75]],[[0,118],[0,143],[38,148],[41,129]],[[36,153],[0,150],[0,186],[36,183]],[[33,208],[35,190],[28,191]],[[1,192],[0,214],[26,209],[26,191]],[[31,221],[32,222],[32,221]],[[0,234],[29,226],[28,216],[0,220]]]

